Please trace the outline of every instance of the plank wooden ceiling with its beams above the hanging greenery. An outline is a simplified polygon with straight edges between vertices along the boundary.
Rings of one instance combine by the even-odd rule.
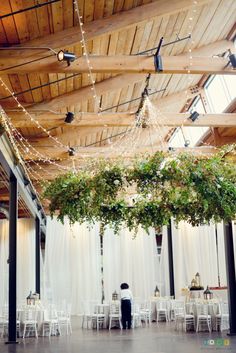
[[[5,16],[37,4],[43,6]],[[128,158],[136,152],[166,147],[173,126],[192,124],[188,115],[176,113],[184,113],[196,96],[204,97],[202,86],[212,65],[218,65],[219,72],[232,73],[228,59],[212,57],[233,50],[235,0],[78,0],[78,5],[90,67],[94,65],[95,91],[91,90],[87,61],[82,58],[81,31],[72,0],[0,3],[0,46],[5,48],[0,50],[0,76],[26,111],[4,84],[0,85],[0,105],[11,119],[11,127],[18,130],[14,138],[35,183],[79,167],[88,157],[123,154]],[[157,121],[151,128],[138,130],[134,113],[154,52],[145,57],[135,54],[157,47],[161,37],[165,45],[190,32],[191,39],[162,47],[164,72],[152,73],[149,82]],[[24,50],[11,49],[16,46]],[[78,60],[70,66],[58,63],[46,47],[55,52],[67,49]],[[165,70],[167,62],[170,68]],[[182,71],[178,71],[180,66]],[[72,124],[64,122],[67,112],[75,114]],[[224,134],[231,136],[230,142],[236,140],[232,128],[235,114],[223,120],[219,114],[205,115],[196,125],[201,122],[213,129],[221,124]],[[69,156],[68,148],[75,149],[75,156]]]

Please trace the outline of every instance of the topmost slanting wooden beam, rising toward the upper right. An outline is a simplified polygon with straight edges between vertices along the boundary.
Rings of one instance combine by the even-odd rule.
[[[212,0],[198,0],[197,6],[205,5]],[[155,17],[163,17],[173,15],[178,12],[186,11],[192,8],[192,2],[189,0],[158,0],[152,3],[137,6],[128,11],[121,11],[117,14],[102,18],[92,22],[84,23],[83,29],[86,33],[86,40],[95,39],[96,37],[111,34],[116,31],[124,30],[137,24],[142,24],[145,21]],[[44,36],[42,38],[33,39],[21,45],[21,47],[48,47],[55,51],[60,49],[73,47],[80,44],[81,32],[79,26],[71,27],[63,31]],[[4,51],[4,55],[10,58],[12,51]],[[42,54],[48,56],[49,51],[45,49],[39,50],[19,50],[15,52],[19,56],[25,58],[33,58],[35,55]]]

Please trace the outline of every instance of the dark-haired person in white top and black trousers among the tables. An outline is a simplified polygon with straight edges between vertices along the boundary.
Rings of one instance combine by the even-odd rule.
[[[125,330],[126,328],[131,328],[131,301],[133,300],[133,295],[127,283],[121,283],[120,289],[121,322]]]

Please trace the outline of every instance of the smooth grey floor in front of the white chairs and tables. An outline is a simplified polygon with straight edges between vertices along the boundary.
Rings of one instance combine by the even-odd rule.
[[[17,345],[0,340],[0,353],[198,353],[236,352],[236,336],[226,332],[176,332],[173,323],[152,323],[134,330],[81,329],[73,320],[71,336],[26,338]],[[209,341],[211,340],[211,341]],[[225,341],[226,340],[226,341]]]

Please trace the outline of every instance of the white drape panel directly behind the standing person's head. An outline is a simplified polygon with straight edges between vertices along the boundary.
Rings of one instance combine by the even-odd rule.
[[[160,278],[155,231],[139,229],[135,235],[122,229],[118,235],[110,228],[103,236],[103,278],[105,301],[112,299],[120,284],[129,284],[135,298],[149,299]]]

